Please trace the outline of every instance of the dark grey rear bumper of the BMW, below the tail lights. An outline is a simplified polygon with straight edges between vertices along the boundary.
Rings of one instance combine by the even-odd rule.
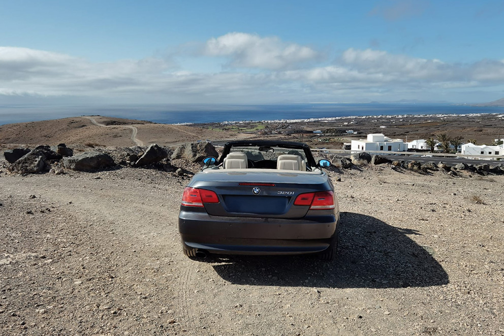
[[[308,254],[326,250],[336,238],[339,213],[303,219],[210,216],[180,211],[184,249],[240,255]]]

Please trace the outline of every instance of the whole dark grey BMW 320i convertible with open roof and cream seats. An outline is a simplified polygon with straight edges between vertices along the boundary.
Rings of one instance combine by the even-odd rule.
[[[319,254],[333,258],[338,201],[307,144],[232,141],[206,158],[182,195],[178,227],[188,257]]]

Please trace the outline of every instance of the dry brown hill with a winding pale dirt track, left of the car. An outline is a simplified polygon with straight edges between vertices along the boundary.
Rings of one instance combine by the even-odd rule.
[[[93,120],[96,122],[93,124]],[[106,127],[104,127],[106,126]],[[135,133],[134,130],[138,133]],[[71,117],[0,126],[0,143],[56,145],[93,144],[102,146],[174,145],[206,139],[227,139],[234,135],[199,127],[154,124],[149,121],[104,116]]]

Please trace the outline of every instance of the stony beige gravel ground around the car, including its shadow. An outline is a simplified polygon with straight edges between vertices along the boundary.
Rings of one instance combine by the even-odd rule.
[[[177,231],[187,179],[0,170],[0,334],[504,335],[504,176],[330,172],[334,261],[198,262]]]

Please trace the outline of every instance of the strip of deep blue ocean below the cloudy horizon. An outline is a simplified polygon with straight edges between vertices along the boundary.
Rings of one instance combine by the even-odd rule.
[[[0,106],[0,125],[104,115],[162,124],[200,124],[223,121],[320,119],[348,116],[420,114],[504,114],[504,107],[453,104],[285,104],[285,105],[107,105],[107,106]]]

